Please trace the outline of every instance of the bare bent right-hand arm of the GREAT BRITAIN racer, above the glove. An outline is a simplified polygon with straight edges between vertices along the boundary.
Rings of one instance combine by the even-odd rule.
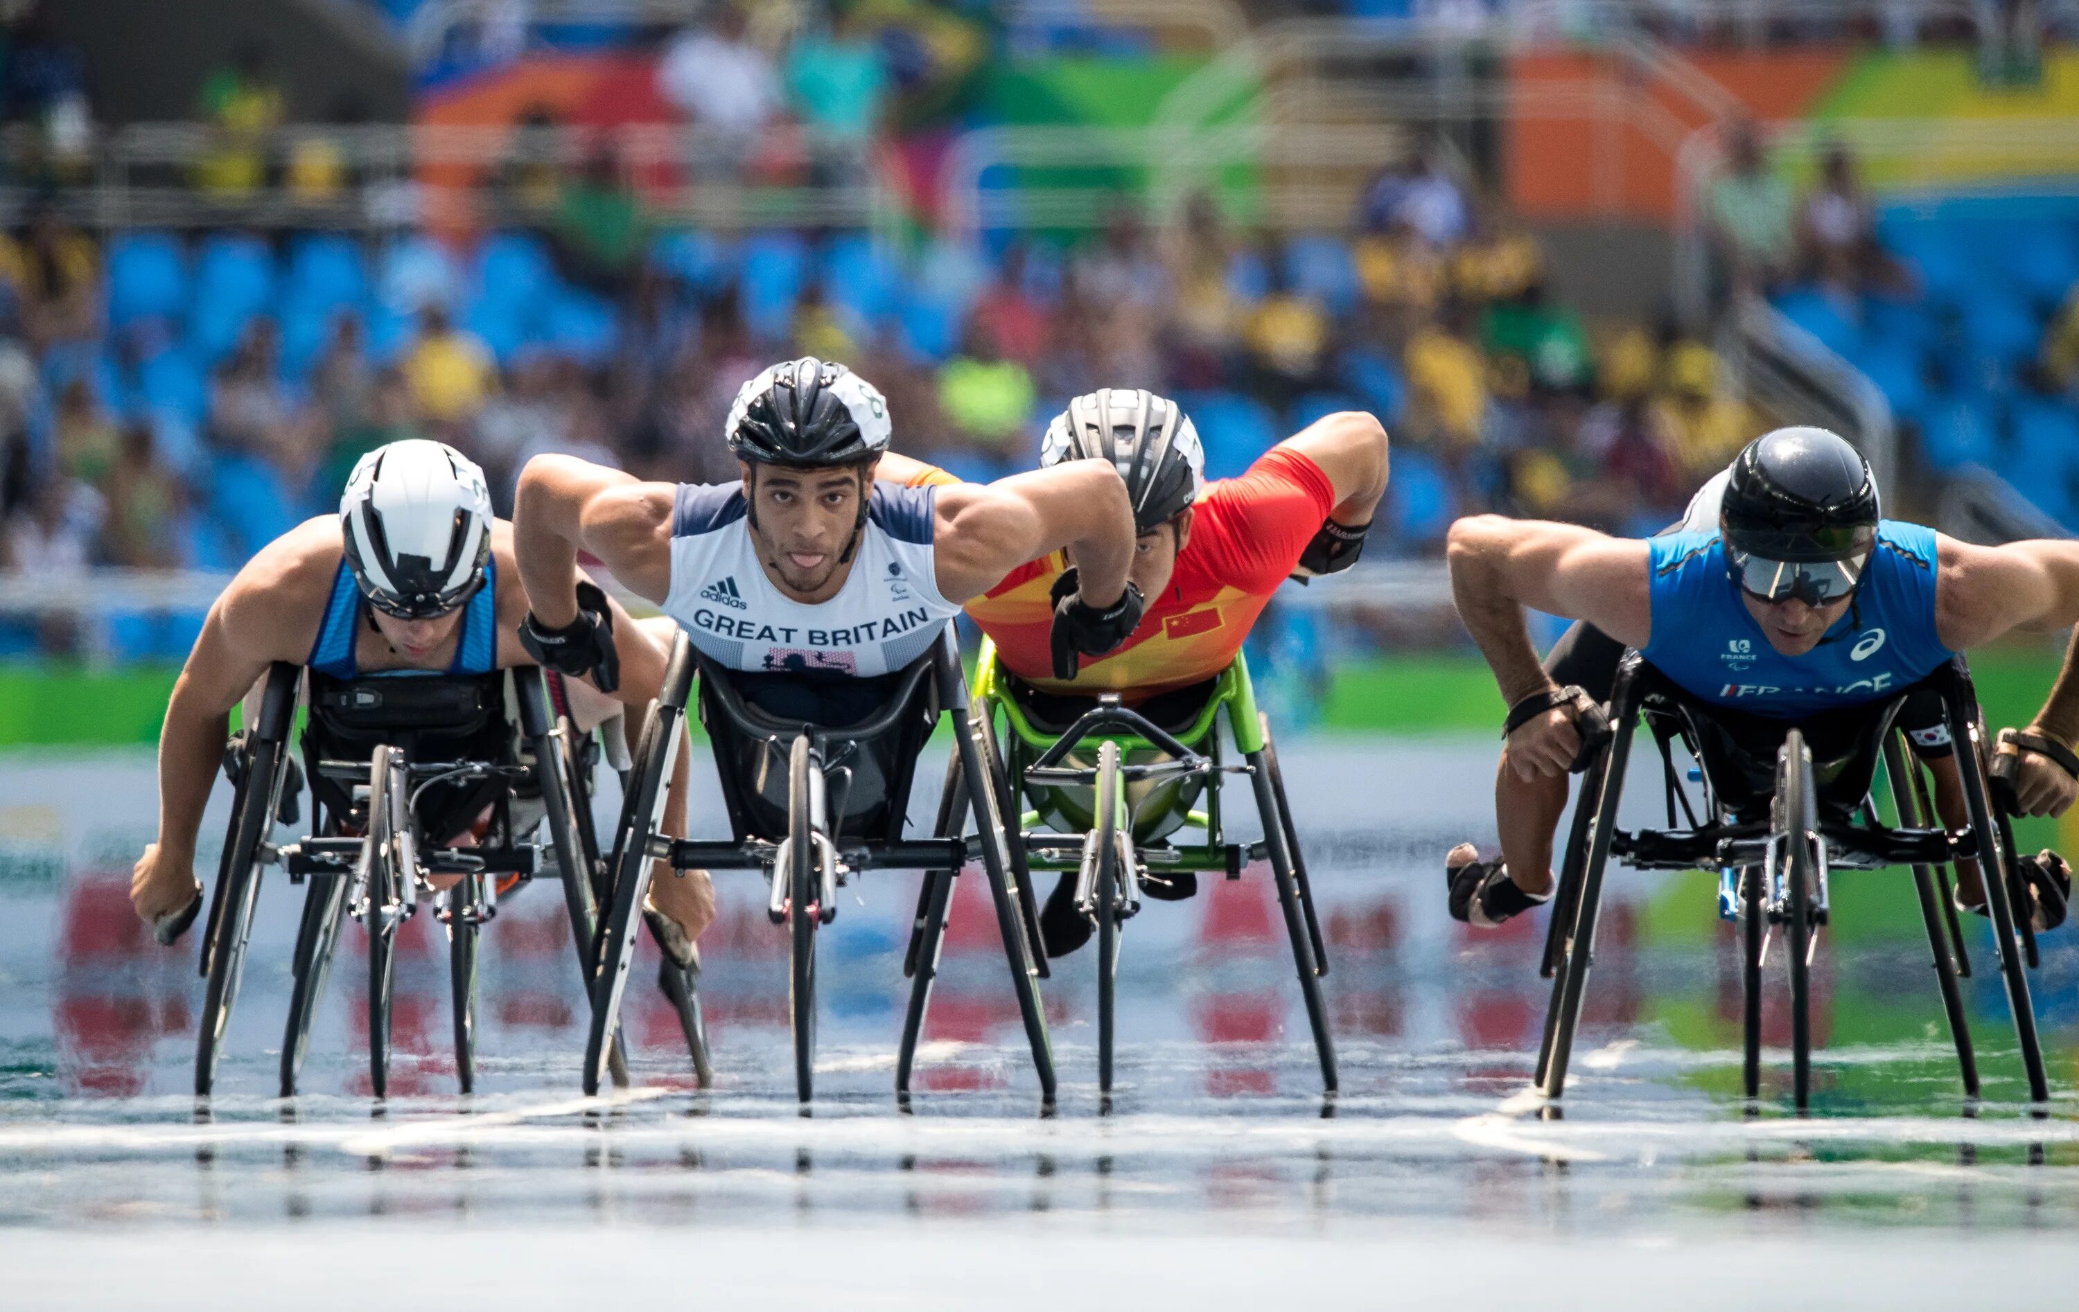
[[[938,491],[933,557],[946,601],[979,597],[1004,574],[1062,547],[1075,553],[1083,601],[1096,609],[1116,605],[1133,563],[1133,505],[1108,460],[1071,460]]]

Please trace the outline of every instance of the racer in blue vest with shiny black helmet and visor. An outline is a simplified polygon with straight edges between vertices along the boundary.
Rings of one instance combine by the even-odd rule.
[[[1840,724],[1886,701],[1958,651],[2010,630],[2079,622],[2079,543],[1958,543],[1879,518],[1869,464],[1823,428],[1778,428],[1734,460],[1717,526],[1684,524],[1651,541],[1574,524],[1474,516],[1451,526],[1451,593],[1509,703],[1495,784],[1501,861],[1447,859],[1451,915],[1499,925],[1553,890],[1553,830],[1565,776],[1593,749],[1593,694],[1563,690],[1538,663],[1524,607],[1584,620],[1634,647],[1699,701],[1748,732]],[[1584,732],[1586,730],[1586,732]],[[2002,753],[2071,755],[2079,686],[2071,653],[2031,730],[2002,732]],[[1927,746],[1923,732],[1909,732]],[[1586,742],[1586,749],[1584,749]],[[2042,763],[2019,761],[2017,792],[2037,809],[2071,801]],[[2079,767],[2079,761],[2071,765]],[[2071,771],[2067,771],[2071,773]],[[1938,809],[1948,813],[1936,771]],[[1956,807],[1960,811],[1960,792]],[[2054,852],[2023,859],[2033,921],[2064,919],[2071,875]],[[1958,865],[1956,898],[1983,911],[1975,863]]]

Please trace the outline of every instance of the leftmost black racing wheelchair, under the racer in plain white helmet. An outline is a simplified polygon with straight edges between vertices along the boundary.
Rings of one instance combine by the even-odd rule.
[[[274,865],[293,884],[308,884],[297,925],[289,1017],[281,1050],[281,1096],[295,1094],[310,1046],[318,1000],[331,975],[339,931],[351,915],[370,929],[368,944],[368,1040],[370,1087],[389,1092],[391,998],[395,986],[397,927],[416,913],[428,892],[428,875],[459,875],[439,894],[437,915],[449,936],[449,981],[453,990],[455,1073],[464,1094],[476,1085],[476,961],[478,934],[497,915],[497,877],[528,882],[543,871],[543,855],[553,861],[563,886],[572,938],[580,969],[590,961],[597,936],[597,904],[605,892],[605,867],[593,832],[584,740],[568,715],[557,715],[541,670],[511,670],[520,707],[520,732],[532,765],[518,761],[414,761],[416,732],[399,732],[399,742],[380,742],[368,761],[308,761],[318,778],[345,790],[349,813],[316,815],[312,788],[312,838],[274,844],[274,817],[285,809],[289,734],[295,717],[304,667],[277,661],[256,724],[227,753],[227,773],[235,782],[231,828],[218,861],[208,931],[202,942],[204,990],[202,1027],[195,1046],[195,1092],[210,1094],[222,1054],[225,1027],[237,998],[258,902],[260,873]],[[424,840],[416,803],[432,784],[501,780],[493,832],[503,842],[491,846],[439,846]],[[514,786],[532,780],[538,788],[549,842],[514,834]],[[360,834],[353,834],[360,830]],[[686,1029],[694,1062],[705,1069],[705,1033],[699,998],[690,979],[672,994]],[[615,1079],[626,1083],[626,1062],[615,1042]]]

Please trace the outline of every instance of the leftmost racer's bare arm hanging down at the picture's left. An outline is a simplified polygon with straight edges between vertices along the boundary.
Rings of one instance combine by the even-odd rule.
[[[131,871],[131,904],[146,921],[193,896],[195,832],[231,709],[270,663],[310,655],[337,568],[337,520],[312,520],[266,545],[210,607],[158,734],[158,840]]]

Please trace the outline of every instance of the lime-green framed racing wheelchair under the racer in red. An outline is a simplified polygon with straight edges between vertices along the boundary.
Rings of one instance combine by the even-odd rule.
[[[1337,1092],[1335,1040],[1320,994],[1320,977],[1328,973],[1326,946],[1285,801],[1270,724],[1256,709],[1247,661],[1237,655],[1220,672],[1206,705],[1177,734],[1123,707],[1116,694],[1098,697],[1089,711],[1054,734],[1033,724],[1019,701],[1017,676],[996,659],[996,645],[983,640],[971,705],[975,728],[988,744],[985,757],[1002,769],[996,792],[1006,798],[1006,811],[1021,811],[1015,825],[1019,840],[1010,844],[1010,855],[1019,867],[1017,882],[1027,890],[1027,907],[1035,907],[1031,871],[1075,871],[1077,907],[1096,923],[1100,1092],[1108,1096],[1112,1090],[1121,925],[1139,911],[1141,884],[1150,873],[1183,871],[1239,880],[1243,865],[1260,859],[1270,861],[1277,882],[1322,1085]],[[996,746],[998,715],[1006,728],[1002,749]],[[1220,719],[1227,721],[1241,765],[1225,761]],[[1096,751],[1096,763],[1071,759],[1071,753],[1087,757],[1089,751]],[[1220,780],[1229,773],[1249,776],[1264,828],[1258,842],[1227,842]],[[948,794],[956,784],[958,780],[948,780]],[[1129,796],[1135,784],[1146,786],[1137,801]],[[1087,794],[1094,805],[1083,805],[1077,794]],[[1200,796],[1204,809],[1191,809]],[[1025,809],[1029,803],[1037,807]],[[1077,834],[1073,828],[1081,817],[1089,817],[1089,828]],[[1202,842],[1168,840],[1185,828],[1202,830]],[[944,915],[931,915],[933,904],[942,909],[944,900],[933,898],[927,880],[911,942],[909,965],[915,969],[929,969],[925,963],[936,965],[938,959]]]

